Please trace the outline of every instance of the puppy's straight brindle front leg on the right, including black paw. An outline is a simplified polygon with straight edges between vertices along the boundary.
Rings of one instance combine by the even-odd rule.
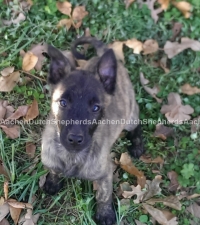
[[[113,173],[110,168],[110,171],[104,178],[97,180],[97,211],[95,217],[100,225],[113,225],[116,221],[115,211],[112,205],[112,177]]]

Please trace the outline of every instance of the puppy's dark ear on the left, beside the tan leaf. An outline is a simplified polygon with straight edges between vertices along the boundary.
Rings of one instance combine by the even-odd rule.
[[[51,58],[48,82],[57,84],[71,71],[69,60],[56,48],[48,46],[48,55]]]

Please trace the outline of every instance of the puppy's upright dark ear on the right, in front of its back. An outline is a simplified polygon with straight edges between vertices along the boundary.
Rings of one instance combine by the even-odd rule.
[[[117,60],[112,49],[101,56],[97,69],[106,92],[113,94],[117,76]]]

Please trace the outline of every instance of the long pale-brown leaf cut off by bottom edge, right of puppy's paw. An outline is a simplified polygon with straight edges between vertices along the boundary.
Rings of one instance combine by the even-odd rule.
[[[176,221],[176,217],[172,218],[171,220],[167,220],[165,215],[159,209],[154,208],[146,203],[142,203],[142,206],[146,211],[161,225],[178,225]]]

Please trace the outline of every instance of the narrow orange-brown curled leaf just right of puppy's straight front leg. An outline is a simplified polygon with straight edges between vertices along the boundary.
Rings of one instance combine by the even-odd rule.
[[[137,183],[144,188],[146,183],[146,177],[142,171],[139,171],[132,163],[131,157],[127,152],[122,153],[120,157],[120,167],[128,173],[137,177]]]

